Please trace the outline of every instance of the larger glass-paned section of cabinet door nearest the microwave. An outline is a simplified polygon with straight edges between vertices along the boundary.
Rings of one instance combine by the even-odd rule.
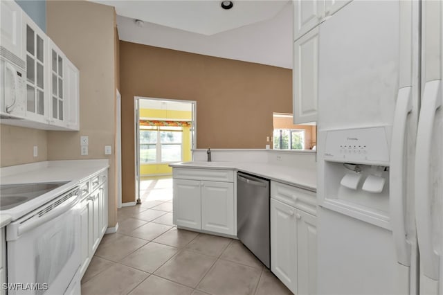
[[[44,115],[44,35],[26,24],[26,109]]]

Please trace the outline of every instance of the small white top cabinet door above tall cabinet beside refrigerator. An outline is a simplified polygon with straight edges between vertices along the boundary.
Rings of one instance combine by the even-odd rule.
[[[324,1],[296,0],[293,2],[293,38],[305,35],[323,19]]]

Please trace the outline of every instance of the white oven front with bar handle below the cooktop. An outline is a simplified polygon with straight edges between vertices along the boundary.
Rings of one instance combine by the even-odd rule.
[[[80,294],[75,187],[6,227],[8,294]]]

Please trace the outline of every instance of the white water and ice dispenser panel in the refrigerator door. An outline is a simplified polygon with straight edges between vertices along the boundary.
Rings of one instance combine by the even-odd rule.
[[[388,228],[390,127],[325,130],[319,205]]]

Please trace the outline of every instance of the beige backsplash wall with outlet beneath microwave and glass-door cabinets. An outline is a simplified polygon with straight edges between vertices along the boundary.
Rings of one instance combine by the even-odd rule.
[[[9,125],[0,125],[0,167],[46,161],[48,159],[47,132]],[[38,155],[33,156],[34,145]]]

